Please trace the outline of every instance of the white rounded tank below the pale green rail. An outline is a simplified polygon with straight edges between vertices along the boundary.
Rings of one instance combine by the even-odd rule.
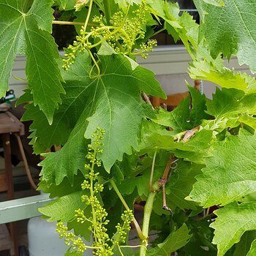
[[[55,230],[56,222],[47,222],[42,217],[29,219],[29,256],[63,256],[69,247]],[[86,250],[84,255],[92,255],[91,250]]]

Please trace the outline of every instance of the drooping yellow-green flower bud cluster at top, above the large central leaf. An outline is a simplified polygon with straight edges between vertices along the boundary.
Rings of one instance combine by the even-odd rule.
[[[127,13],[122,11],[115,12],[110,18],[110,24],[105,24],[103,15],[94,16],[93,22],[95,26],[91,26],[91,31],[87,27],[82,26],[80,34],[76,37],[73,45],[69,45],[64,56],[63,68],[65,70],[74,64],[75,57],[78,53],[89,52],[94,65],[98,68],[97,60],[91,53],[91,49],[108,42],[108,44],[116,51],[116,53],[131,55],[141,55],[146,59],[146,52],[153,50],[157,46],[157,40],[151,39],[148,42],[140,43],[139,49],[135,49],[135,42],[138,39],[144,39],[145,31],[143,26],[146,23],[146,13],[148,7],[146,1],[138,4],[138,9]],[[89,14],[90,15],[90,14]]]

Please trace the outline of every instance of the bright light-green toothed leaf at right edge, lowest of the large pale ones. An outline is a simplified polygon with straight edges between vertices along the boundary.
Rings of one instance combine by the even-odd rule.
[[[210,227],[214,228],[213,244],[217,244],[217,256],[225,255],[233,244],[240,241],[247,230],[256,230],[256,202],[231,203],[214,211],[217,219]]]

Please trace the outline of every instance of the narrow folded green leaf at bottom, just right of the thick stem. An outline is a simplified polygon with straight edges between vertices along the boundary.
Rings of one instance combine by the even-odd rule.
[[[177,249],[185,246],[192,235],[189,235],[187,225],[182,225],[178,230],[170,233],[162,244],[157,244],[154,249],[148,250],[147,256],[170,256],[171,252],[176,252]]]

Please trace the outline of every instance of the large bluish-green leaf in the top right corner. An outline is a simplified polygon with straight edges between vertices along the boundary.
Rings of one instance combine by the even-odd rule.
[[[206,37],[214,58],[219,53],[223,53],[228,59],[232,54],[236,54],[239,64],[247,64],[255,73],[255,1],[225,0],[224,2],[224,7],[206,4],[205,11],[208,14],[205,15],[200,34]]]

